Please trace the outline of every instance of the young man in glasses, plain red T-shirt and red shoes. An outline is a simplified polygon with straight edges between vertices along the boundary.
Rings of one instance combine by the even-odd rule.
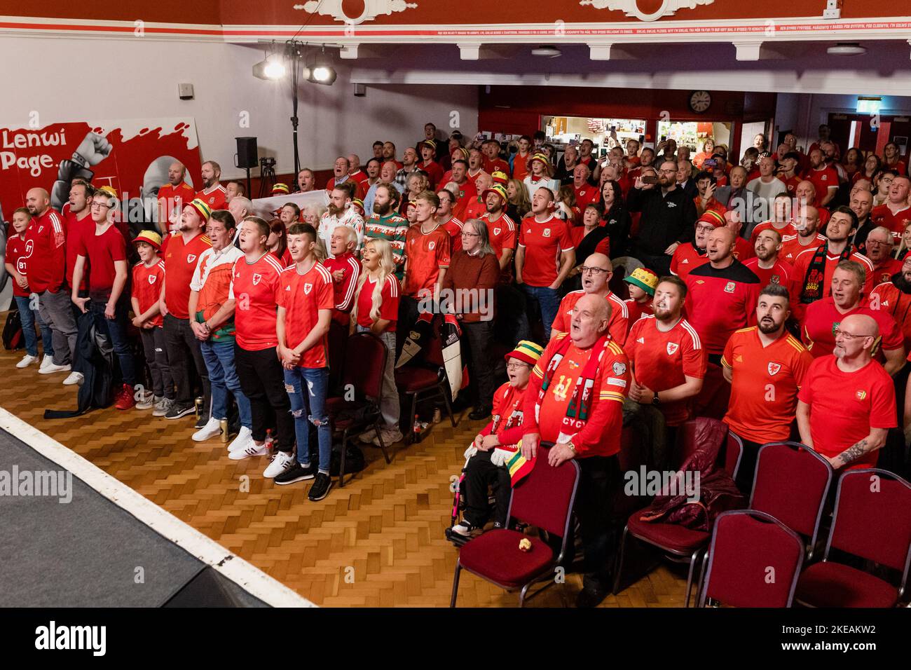
[[[114,225],[117,206],[117,193],[110,186],[102,186],[92,198],[95,229],[79,240],[71,299],[83,314],[91,312],[95,316],[98,330],[110,339],[123,377],[123,384],[114,396],[114,407],[130,409],[136,405],[133,397],[136,364],[127,335],[129,292],[124,290],[129,278],[127,241]],[[88,297],[83,298],[79,296],[79,286],[86,259],[92,273],[88,278]]]

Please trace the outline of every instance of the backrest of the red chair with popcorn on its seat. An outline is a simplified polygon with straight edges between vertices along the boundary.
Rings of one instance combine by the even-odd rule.
[[[513,489],[508,516],[566,541],[579,468],[575,460],[561,463],[557,468],[551,466],[550,447],[552,442],[544,442],[537,448],[534,468]]]

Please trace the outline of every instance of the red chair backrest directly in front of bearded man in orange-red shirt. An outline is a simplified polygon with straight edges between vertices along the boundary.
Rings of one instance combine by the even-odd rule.
[[[771,514],[804,537],[810,547],[832,485],[832,466],[799,442],[770,442],[759,449],[750,509]]]

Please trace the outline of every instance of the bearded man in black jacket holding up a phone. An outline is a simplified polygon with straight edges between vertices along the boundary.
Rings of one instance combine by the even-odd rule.
[[[693,238],[696,205],[677,187],[677,163],[672,160],[661,163],[658,184],[644,183],[640,177],[633,186],[630,211],[642,212],[636,256],[655,273],[670,274],[671,256]]]

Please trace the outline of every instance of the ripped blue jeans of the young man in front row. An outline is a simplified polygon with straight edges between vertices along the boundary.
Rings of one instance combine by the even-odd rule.
[[[333,451],[333,432],[326,414],[326,387],[329,385],[328,367],[282,368],[285,390],[291,398],[291,415],[294,417],[294,436],[297,438],[297,462],[310,465],[310,424],[316,426],[320,441],[320,471],[329,473],[329,459]],[[304,391],[306,388],[306,391]]]

